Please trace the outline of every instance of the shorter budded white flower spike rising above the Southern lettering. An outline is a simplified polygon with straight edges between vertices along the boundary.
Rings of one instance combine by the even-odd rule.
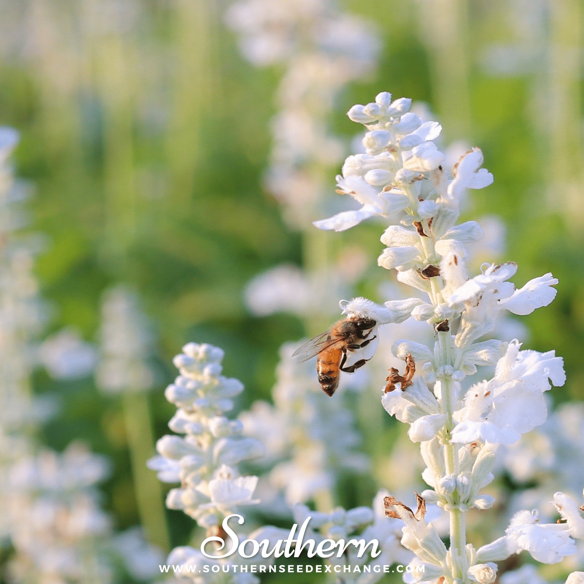
[[[180,482],[166,499],[169,509],[182,509],[208,530],[224,517],[253,505],[258,477],[241,476],[238,464],[262,456],[262,444],[241,435],[243,426],[224,414],[244,386],[221,375],[223,350],[189,343],[174,359],[179,370],[166,388],[166,399],[178,407],[169,422],[176,434],[157,443],[159,456],[148,466],[163,482]]]

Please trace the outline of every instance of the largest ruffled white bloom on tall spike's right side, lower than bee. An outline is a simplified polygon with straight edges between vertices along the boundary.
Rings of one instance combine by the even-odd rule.
[[[495,377],[467,391],[464,408],[454,414],[453,442],[513,444],[545,422],[543,393],[551,389],[550,380],[564,384],[563,360],[553,351],[520,351],[520,346],[517,340],[509,343]]]

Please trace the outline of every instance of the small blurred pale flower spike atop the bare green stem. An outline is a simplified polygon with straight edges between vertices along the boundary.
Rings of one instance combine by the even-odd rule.
[[[101,359],[96,371],[99,388],[117,394],[152,387],[154,373],[148,365],[152,333],[137,295],[124,286],[110,288],[103,295],[100,340]]]

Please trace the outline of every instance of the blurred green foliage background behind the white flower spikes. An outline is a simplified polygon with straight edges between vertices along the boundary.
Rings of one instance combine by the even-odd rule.
[[[150,400],[158,437],[174,411],[163,392],[171,359],[189,340],[225,349],[226,374],[246,386],[239,408],[269,399],[279,347],[304,335],[303,322],[252,317],[242,290],[270,266],[300,263],[301,237],[262,186],[281,69],[241,57],[223,23],[226,1],[124,4],[0,1],[0,123],[22,133],[15,163],[33,187],[29,229],[46,235],[37,276],[54,309],[47,333],[74,326],[95,340],[103,290],[134,286],[157,328],[160,381]],[[376,73],[340,96],[333,128],[351,137],[346,110],[391,91],[427,102],[447,140],[482,148],[495,184],[472,194],[472,216],[505,221],[517,283],[548,271],[559,278],[557,300],[524,322],[529,348],[555,348],[565,359],[568,383],[554,399],[582,399],[579,3],[548,7],[530,65],[498,74],[485,51],[520,44],[517,27],[531,18],[510,18],[513,2],[444,2],[460,22],[442,46],[429,40],[423,0],[340,4],[377,22],[383,48]],[[558,69],[566,54],[576,60],[568,73]],[[329,236],[369,249],[374,272],[377,225]],[[42,370],[34,391],[61,401],[41,440],[62,450],[81,437],[112,457],[106,509],[120,529],[137,523],[119,400],[89,379],[57,382]],[[180,512],[169,520],[172,544],[185,544],[192,521]]]

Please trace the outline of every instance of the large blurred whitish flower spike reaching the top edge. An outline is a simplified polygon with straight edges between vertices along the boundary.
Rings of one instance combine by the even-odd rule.
[[[336,97],[349,82],[366,77],[376,60],[373,27],[339,12],[331,0],[241,0],[226,19],[249,61],[286,68],[266,183],[288,223],[304,227],[321,212],[327,169],[343,155],[342,141],[329,128]]]

